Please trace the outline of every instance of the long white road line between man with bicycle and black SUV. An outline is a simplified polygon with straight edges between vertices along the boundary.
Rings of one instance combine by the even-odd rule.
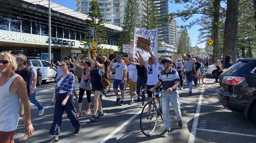
[[[206,78],[204,78],[204,79],[206,79]],[[196,133],[197,133],[197,125],[198,125],[198,120],[199,120],[200,111],[201,111],[201,104],[202,104],[202,100],[203,100],[203,89],[204,89],[204,86],[205,86],[205,84],[203,84],[203,86],[201,88],[201,94],[199,96],[199,100],[198,100],[198,104],[197,104],[197,111],[195,113],[192,129],[191,129],[191,131],[189,133],[188,143],[194,143],[195,142]]]

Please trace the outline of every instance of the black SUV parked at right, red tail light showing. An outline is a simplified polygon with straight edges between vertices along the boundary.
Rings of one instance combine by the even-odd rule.
[[[220,75],[217,96],[221,104],[256,123],[256,59],[240,59]]]

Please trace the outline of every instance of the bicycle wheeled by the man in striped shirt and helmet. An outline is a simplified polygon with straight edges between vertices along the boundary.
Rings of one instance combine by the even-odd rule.
[[[149,91],[145,89],[142,91],[142,96],[145,97],[145,91]],[[150,136],[154,130],[156,129],[158,117],[160,116],[163,121],[162,113],[157,108],[155,97],[159,97],[162,92],[155,93],[152,96],[152,101],[147,102],[142,108],[140,114],[140,129],[145,136]],[[160,98],[160,97],[159,97]]]

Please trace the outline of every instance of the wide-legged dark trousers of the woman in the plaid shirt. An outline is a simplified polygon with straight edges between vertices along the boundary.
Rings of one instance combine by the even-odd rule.
[[[76,109],[74,107],[74,99],[73,95],[71,95],[66,103],[66,105],[62,106],[62,101],[66,98],[67,93],[56,94],[56,102],[54,108],[54,119],[50,129],[50,134],[52,135],[59,135],[60,134],[60,127],[62,121],[63,111],[65,110],[69,120],[72,123],[72,126],[75,128],[80,127],[80,123],[76,117]]]

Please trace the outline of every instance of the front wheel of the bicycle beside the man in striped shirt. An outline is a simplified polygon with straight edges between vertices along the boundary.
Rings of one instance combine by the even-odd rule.
[[[140,114],[140,129],[144,135],[150,136],[154,132],[157,126],[157,118],[156,104],[146,103]]]

